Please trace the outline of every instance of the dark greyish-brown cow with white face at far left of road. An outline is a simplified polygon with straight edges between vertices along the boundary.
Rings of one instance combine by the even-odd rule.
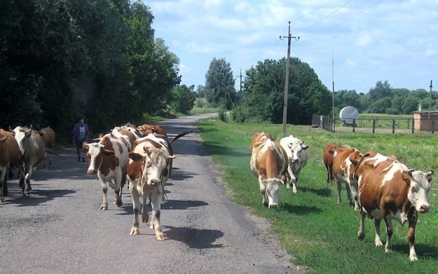
[[[23,196],[29,196],[29,191],[32,190],[30,179],[34,167],[36,167],[43,159],[46,152],[44,141],[37,131],[32,130],[32,126],[16,127],[15,139],[20,148],[24,170],[20,171],[20,187]]]

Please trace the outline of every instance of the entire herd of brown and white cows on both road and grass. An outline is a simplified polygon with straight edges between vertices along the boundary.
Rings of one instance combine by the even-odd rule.
[[[157,240],[163,240],[160,225],[161,204],[164,201],[164,184],[172,171],[171,143],[188,134],[178,134],[171,141],[159,125],[135,127],[128,123],[115,127],[108,134],[100,134],[93,143],[85,142],[88,174],[97,174],[102,186],[101,210],[108,209],[108,186],[114,190],[114,204],[122,206],[122,189],[127,184],[133,203],[134,219],[131,235],[139,234],[139,217],[149,219],[147,200],[152,206],[150,228],[155,229]],[[55,132],[52,128],[33,130],[32,126],[0,129],[0,201],[7,194],[7,178],[12,167],[18,168],[19,185],[23,196],[31,191],[31,175],[43,159],[44,166],[52,164]],[[256,133],[251,142],[251,170],[258,178],[262,203],[269,208],[278,205],[280,184],[292,186],[297,192],[298,175],[308,161],[309,146],[292,135],[275,142],[271,134]],[[337,181],[338,203],[341,203],[342,183],[345,183],[350,205],[360,211],[361,223],[358,238],[365,237],[365,215],[375,222],[375,245],[382,246],[380,224],[386,223],[385,252],[392,248],[392,219],[401,224],[409,222],[407,240],[409,257],[417,260],[414,247],[418,213],[430,209],[428,192],[433,170],[423,172],[409,169],[396,156],[384,156],[375,151],[362,154],[349,146],[329,144],[323,152],[327,169],[327,183]],[[127,181],[128,180],[128,181]],[[140,202],[140,199],[142,202]]]

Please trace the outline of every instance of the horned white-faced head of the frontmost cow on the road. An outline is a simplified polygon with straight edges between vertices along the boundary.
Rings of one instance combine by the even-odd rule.
[[[129,158],[133,161],[143,161],[142,165],[142,182],[148,185],[156,186],[162,183],[164,177],[169,174],[168,162],[177,156],[169,155],[162,149],[154,147],[143,147],[145,155],[130,152]]]

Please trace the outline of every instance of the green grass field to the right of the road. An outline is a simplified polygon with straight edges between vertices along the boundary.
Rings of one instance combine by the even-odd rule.
[[[356,237],[360,216],[347,205],[342,192],[342,205],[336,204],[336,191],[327,186],[327,174],[322,163],[322,151],[330,142],[355,146],[362,152],[374,149],[383,154],[397,155],[409,167],[438,171],[438,137],[433,135],[385,135],[331,133],[308,126],[288,126],[293,134],[309,146],[309,162],[298,181],[298,193],[284,186],[280,189],[279,208],[268,209],[261,204],[258,181],[249,168],[249,146],[254,132],[272,133],[281,137],[281,125],[223,123],[216,119],[199,122],[206,151],[220,163],[224,180],[233,189],[231,199],[248,206],[256,214],[271,219],[293,263],[308,266],[315,273],[438,273],[438,203],[436,183],[429,201],[432,210],[420,215],[416,229],[416,250],[419,260],[409,261],[406,241],[407,225],[395,220],[393,252],[385,254],[383,247],[374,246],[374,222],[366,219],[366,236]],[[434,180],[436,181],[436,180]],[[384,222],[381,226],[386,240]]]

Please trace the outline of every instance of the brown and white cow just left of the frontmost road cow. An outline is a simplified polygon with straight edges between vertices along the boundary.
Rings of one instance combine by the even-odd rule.
[[[84,143],[87,149],[88,174],[96,174],[102,186],[103,201],[100,210],[108,209],[108,185],[114,189],[114,203],[122,206],[122,187],[126,181],[129,143],[109,133],[99,143]]]

